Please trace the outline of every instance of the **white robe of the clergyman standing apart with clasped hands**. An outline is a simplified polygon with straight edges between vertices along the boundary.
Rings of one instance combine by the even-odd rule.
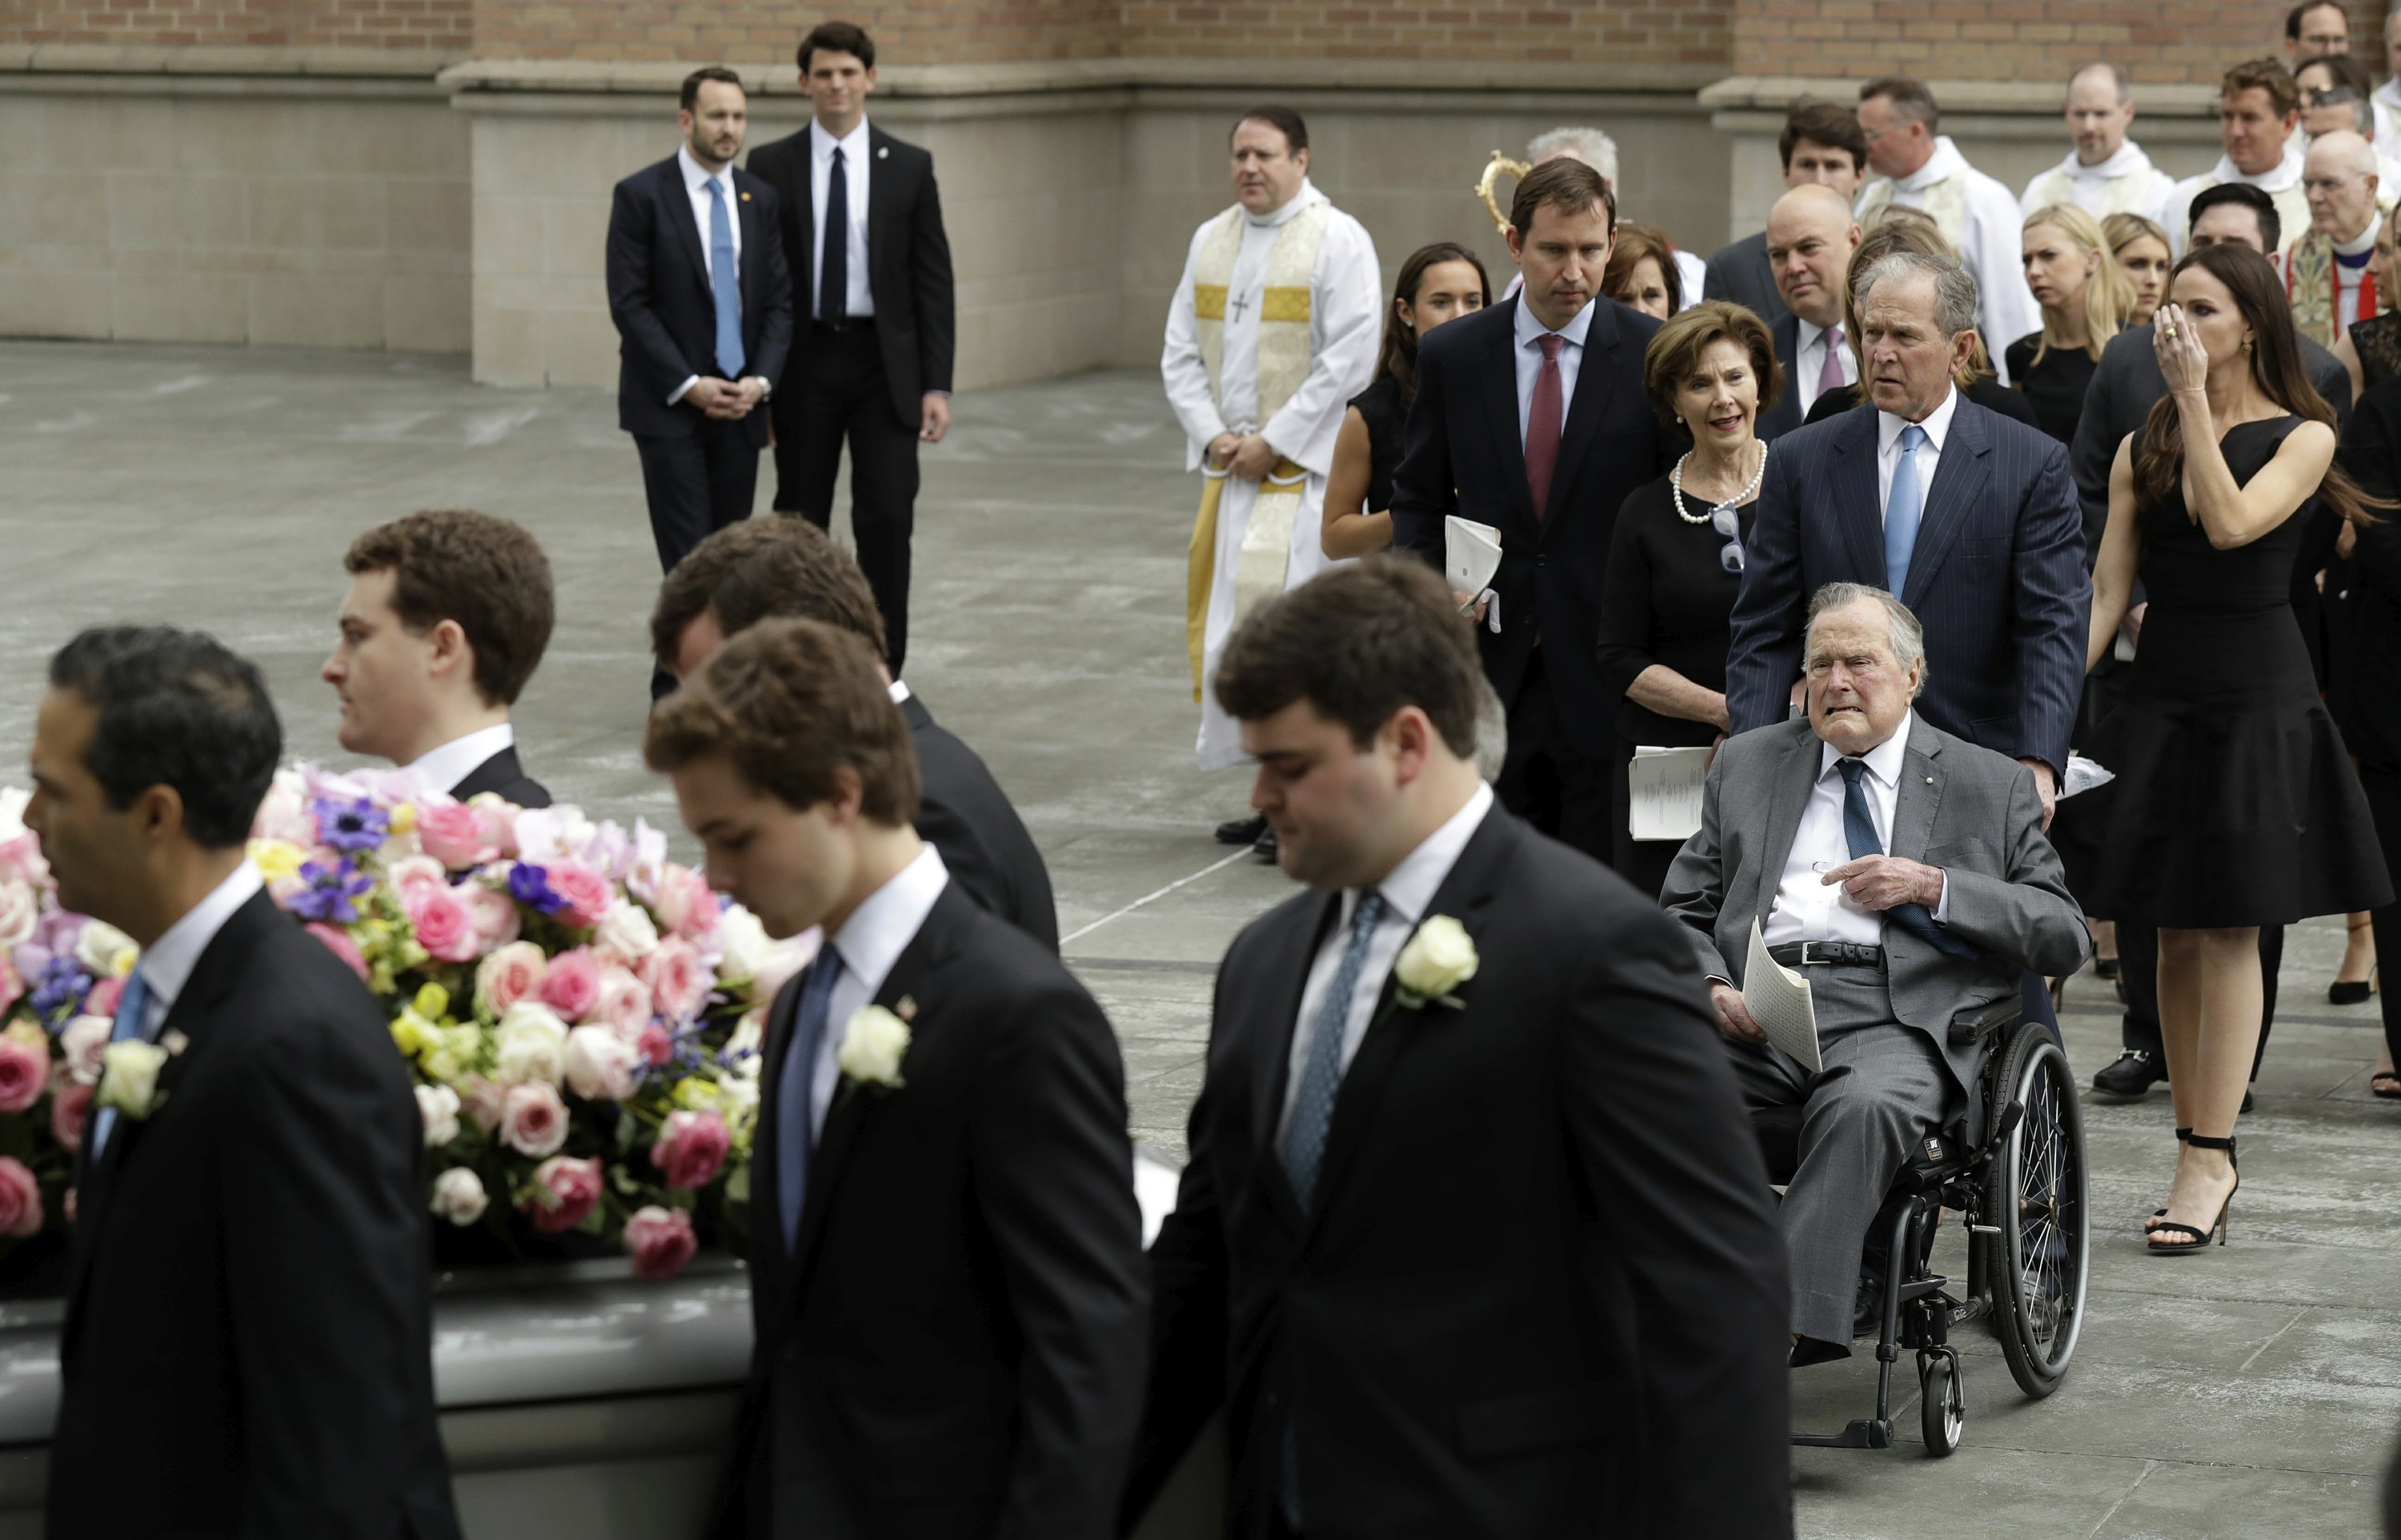
[[[1349,399],[1373,382],[1376,351],[1383,344],[1383,269],[1376,267],[1376,243],[1366,226],[1328,204],[1325,233],[1309,274],[1309,375],[1292,389],[1282,408],[1261,423],[1258,324],[1268,300],[1268,255],[1282,226],[1311,204],[1328,204],[1328,199],[1304,180],[1292,202],[1275,214],[1244,214],[1241,247],[1225,286],[1225,332],[1215,384],[1200,351],[1193,283],[1203,247],[1222,216],[1203,221],[1184,255],[1184,276],[1167,308],[1167,346],[1160,353],[1167,404],[1184,423],[1188,440],[1186,471],[1203,466],[1208,444],[1220,432],[1258,432],[1277,454],[1306,471],[1299,517],[1292,521],[1285,589],[1294,589],[1328,567],[1321,524],[1325,476],[1335,464],[1335,435],[1342,430]],[[1261,483],[1229,476],[1217,497],[1217,555],[1200,653],[1203,690],[1196,750],[1203,769],[1244,762],[1241,735],[1205,685],[1217,673],[1217,658],[1234,632],[1234,574],[1258,490]]]

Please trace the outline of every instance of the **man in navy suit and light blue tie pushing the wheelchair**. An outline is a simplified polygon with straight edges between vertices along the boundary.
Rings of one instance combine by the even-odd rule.
[[[1957,262],[1887,257],[1863,296],[1870,404],[1767,456],[1726,658],[1734,730],[1786,718],[1810,593],[1887,589],[1926,620],[1916,709],[2031,769],[2048,824],[2091,613],[2067,449],[1952,387],[1976,341]]]

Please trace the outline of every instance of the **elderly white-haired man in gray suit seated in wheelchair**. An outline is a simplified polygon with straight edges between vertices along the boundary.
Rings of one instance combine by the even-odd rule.
[[[1803,678],[1808,721],[1719,750],[1661,894],[1753,1112],[1803,1110],[1784,1192],[1794,1365],[1849,1357],[1868,1225],[1916,1141],[1969,1105],[1976,1047],[1952,1023],[2091,951],[2031,771],[1911,709],[1926,637],[1902,601],[1820,589]],[[1810,980],[1818,1076],[1743,1007],[1753,923]]]

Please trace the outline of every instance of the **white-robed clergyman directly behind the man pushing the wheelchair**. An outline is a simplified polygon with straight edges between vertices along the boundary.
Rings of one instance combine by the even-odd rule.
[[[1976,279],[1976,332],[2002,384],[2002,348],[2041,332],[2043,308],[2026,288],[2017,195],[1976,171],[1940,127],[1923,82],[1892,74],[1858,89],[1858,132],[1875,180],[1858,190],[1858,223],[1873,231],[1887,209],[1923,209]]]

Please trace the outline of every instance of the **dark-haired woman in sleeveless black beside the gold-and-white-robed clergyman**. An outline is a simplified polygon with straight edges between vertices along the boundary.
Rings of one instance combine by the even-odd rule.
[[[1335,435],[1318,531],[1325,555],[1369,555],[1393,543],[1393,471],[1400,468],[1400,440],[1417,399],[1417,339],[1486,303],[1491,279],[1465,245],[1436,240],[1400,264],[1393,310],[1383,317],[1376,382],[1352,396]]]

